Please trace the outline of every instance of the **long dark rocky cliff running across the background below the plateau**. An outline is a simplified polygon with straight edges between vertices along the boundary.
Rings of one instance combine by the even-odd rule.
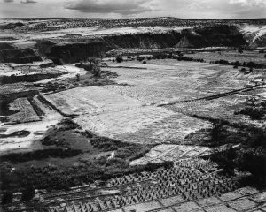
[[[171,31],[160,34],[120,34],[102,36],[90,42],[69,42],[54,44],[45,42],[46,56],[56,64],[79,62],[88,57],[111,49],[160,49],[160,48],[201,48],[212,46],[238,47],[246,41],[237,27],[215,26],[185,29],[181,32]],[[39,47],[42,46],[39,43]],[[43,51],[43,49],[42,49]]]

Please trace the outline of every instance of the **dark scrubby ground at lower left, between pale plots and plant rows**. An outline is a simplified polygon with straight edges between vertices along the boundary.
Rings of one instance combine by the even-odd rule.
[[[29,200],[36,188],[68,189],[96,179],[172,164],[129,167],[130,161],[145,155],[153,146],[124,143],[83,132],[71,119],[51,128],[41,142],[46,147],[43,150],[1,157],[0,186],[4,203],[10,202],[10,193],[18,191],[24,193],[24,200]]]

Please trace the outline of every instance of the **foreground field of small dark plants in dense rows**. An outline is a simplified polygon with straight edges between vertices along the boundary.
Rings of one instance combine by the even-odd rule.
[[[185,163],[189,165],[182,167]],[[203,167],[203,169],[200,167]],[[143,171],[139,174],[114,178],[109,180],[108,186],[132,184],[129,196],[119,195],[102,199],[96,198],[90,200],[90,202],[80,202],[78,205],[72,203],[72,205],[65,208],[51,208],[50,211],[105,211],[175,195],[181,196],[184,201],[198,200],[233,191],[241,185],[241,178],[223,176],[219,171],[209,172],[207,167],[212,168],[210,170],[216,169],[215,163],[204,161],[203,159],[192,161],[183,159],[169,169],[160,169],[153,172]],[[150,183],[144,182],[145,180]],[[140,182],[143,183],[140,184]]]

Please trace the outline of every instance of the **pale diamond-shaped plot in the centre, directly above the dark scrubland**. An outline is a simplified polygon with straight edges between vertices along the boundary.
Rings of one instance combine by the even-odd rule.
[[[181,142],[186,135],[210,123],[160,107],[82,116],[74,119],[82,128],[136,143]]]

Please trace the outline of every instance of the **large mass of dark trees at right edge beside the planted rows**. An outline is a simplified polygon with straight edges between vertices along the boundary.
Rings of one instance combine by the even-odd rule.
[[[196,138],[194,135],[193,139]],[[210,158],[231,174],[234,174],[235,169],[249,171],[256,186],[266,186],[265,129],[232,128],[215,123],[208,133],[208,139],[202,140],[200,145],[210,147],[226,145],[223,150],[214,151]]]

